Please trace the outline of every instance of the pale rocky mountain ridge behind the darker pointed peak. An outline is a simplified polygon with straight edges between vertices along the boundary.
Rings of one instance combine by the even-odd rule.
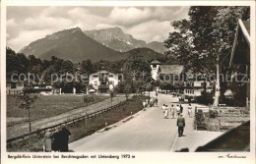
[[[120,27],[85,30],[84,32],[97,42],[119,52],[141,47],[148,47],[162,54],[166,50],[162,43],[154,41],[147,44],[144,40],[135,39],[131,34],[124,33]]]

